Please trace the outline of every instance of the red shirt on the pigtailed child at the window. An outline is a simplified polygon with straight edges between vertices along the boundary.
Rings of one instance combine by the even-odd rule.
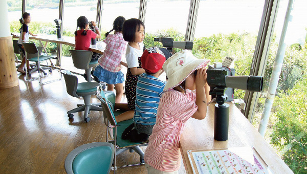
[[[91,39],[96,39],[97,34],[92,30],[86,30],[86,35],[83,36],[81,33],[84,30],[78,30],[75,36],[76,49],[75,50],[89,50],[91,46]]]

